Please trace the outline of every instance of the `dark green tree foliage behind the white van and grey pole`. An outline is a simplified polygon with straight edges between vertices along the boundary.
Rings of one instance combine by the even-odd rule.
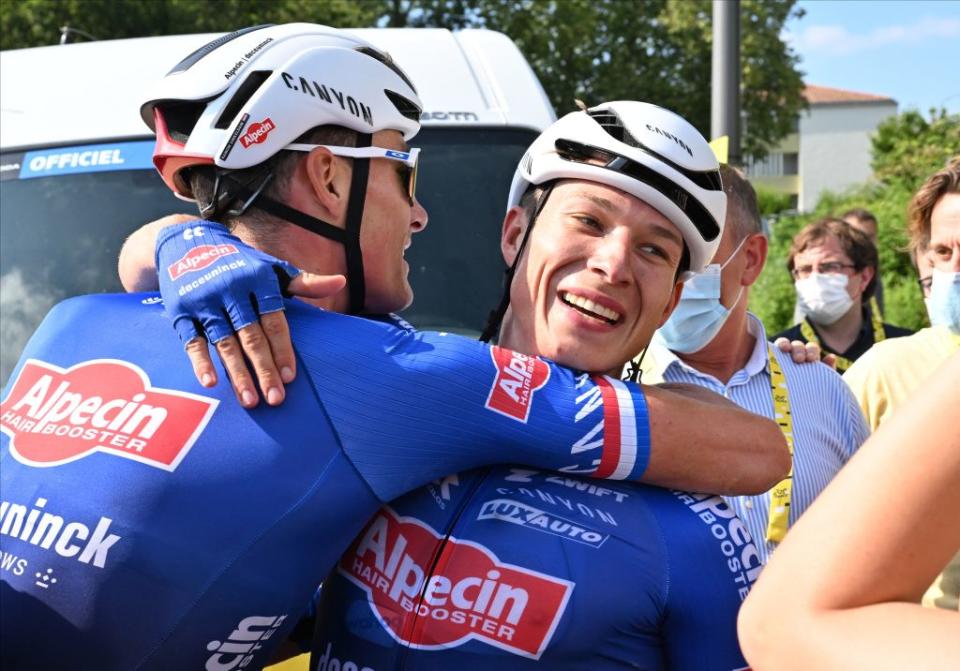
[[[0,3],[0,48],[218,32],[287,21],[339,27],[484,27],[509,35],[558,113],[574,100],[648,100],[710,132],[711,0],[17,0]],[[803,108],[798,57],[781,39],[796,0],[743,0],[743,153],[763,156]]]

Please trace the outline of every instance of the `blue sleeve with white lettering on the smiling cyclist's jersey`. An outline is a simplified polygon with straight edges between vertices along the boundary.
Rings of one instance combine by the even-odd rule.
[[[673,671],[747,668],[737,614],[760,574],[746,525],[721,497],[664,492],[682,506],[657,516],[668,556],[662,635]]]

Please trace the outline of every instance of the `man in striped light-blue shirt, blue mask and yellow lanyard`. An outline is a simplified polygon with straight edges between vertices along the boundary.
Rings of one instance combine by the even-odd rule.
[[[687,281],[680,304],[638,360],[646,383],[706,387],[775,418],[792,436],[791,475],[765,494],[730,499],[766,560],[868,431],[839,375],[819,363],[794,363],[770,346],[763,324],[747,311],[750,287],[766,261],[767,239],[753,188],[727,166],[721,177],[728,223],[714,262]]]

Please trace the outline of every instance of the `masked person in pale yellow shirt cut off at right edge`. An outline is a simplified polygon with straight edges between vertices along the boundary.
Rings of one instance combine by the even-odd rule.
[[[910,247],[930,317],[930,328],[873,347],[843,379],[871,429],[886,422],[908,398],[960,351],[960,159],[930,177],[909,209]],[[960,554],[924,596],[924,605],[960,608]]]

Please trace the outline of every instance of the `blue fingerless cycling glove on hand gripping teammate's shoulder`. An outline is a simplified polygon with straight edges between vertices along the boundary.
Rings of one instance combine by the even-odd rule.
[[[184,344],[204,335],[218,342],[282,310],[283,290],[300,274],[210,221],[164,228],[156,261],[164,307]]]

